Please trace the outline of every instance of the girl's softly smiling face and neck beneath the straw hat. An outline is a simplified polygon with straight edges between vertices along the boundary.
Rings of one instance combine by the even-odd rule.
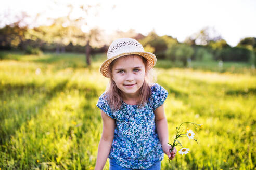
[[[142,57],[129,55],[114,60],[112,79],[125,97],[137,97],[145,80],[145,64]]]

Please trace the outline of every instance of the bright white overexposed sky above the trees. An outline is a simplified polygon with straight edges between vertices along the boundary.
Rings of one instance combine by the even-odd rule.
[[[44,15],[39,18],[39,23],[43,24],[47,23],[47,17],[66,15],[68,9],[64,8],[65,3],[72,3],[74,6],[99,3],[98,10],[93,11],[98,15],[88,17],[87,21],[90,28],[99,27],[106,33],[134,29],[147,35],[155,30],[160,36],[171,35],[183,42],[186,37],[210,26],[231,46],[236,46],[242,38],[256,37],[254,0],[8,0],[0,3],[0,13],[8,10],[14,15],[21,10],[29,15],[43,12]],[[76,8],[72,16],[80,14],[79,8]],[[0,15],[0,21],[1,24],[10,22],[3,15]],[[87,29],[88,27],[83,27],[83,30]]]

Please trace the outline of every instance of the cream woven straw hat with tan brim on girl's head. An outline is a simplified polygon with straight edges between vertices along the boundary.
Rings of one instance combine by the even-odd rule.
[[[100,73],[110,78],[109,64],[124,55],[136,54],[143,56],[148,61],[149,69],[156,65],[157,58],[151,52],[145,52],[143,46],[133,38],[119,38],[111,43],[107,53],[107,60],[101,65]]]

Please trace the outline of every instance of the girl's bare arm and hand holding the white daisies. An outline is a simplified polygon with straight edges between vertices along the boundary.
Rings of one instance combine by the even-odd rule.
[[[167,154],[168,158],[173,159],[176,154],[176,149],[174,148],[171,153],[169,152],[172,147],[168,144],[168,124],[165,118],[163,105],[155,110],[155,121],[163,152]]]

